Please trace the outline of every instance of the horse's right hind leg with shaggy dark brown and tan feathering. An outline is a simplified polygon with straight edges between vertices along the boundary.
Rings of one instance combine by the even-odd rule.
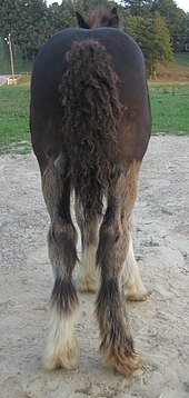
[[[125,314],[121,280],[129,250],[129,218],[137,196],[139,168],[137,162],[130,165],[110,190],[97,252],[101,270],[101,286],[96,304],[102,339],[100,351],[108,365],[126,376],[132,374],[141,362]]]

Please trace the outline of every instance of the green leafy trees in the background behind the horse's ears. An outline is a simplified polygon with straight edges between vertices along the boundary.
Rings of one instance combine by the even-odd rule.
[[[187,14],[173,0],[64,0],[49,7],[44,0],[0,0],[0,37],[8,40],[11,33],[22,58],[33,59],[50,36],[77,26],[76,10],[84,16],[100,6],[118,8],[121,27],[141,47],[150,74],[187,38]]]

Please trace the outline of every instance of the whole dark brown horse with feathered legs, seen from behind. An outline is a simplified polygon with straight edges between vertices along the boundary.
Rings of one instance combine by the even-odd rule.
[[[78,290],[97,291],[100,352],[107,365],[130,376],[141,366],[141,355],[126,299],[148,295],[131,237],[151,131],[146,64],[138,44],[121,31],[116,8],[92,11],[86,19],[77,12],[77,28],[63,29],[43,44],[31,78],[31,141],[50,216],[54,275],[43,365],[49,370],[76,366]]]

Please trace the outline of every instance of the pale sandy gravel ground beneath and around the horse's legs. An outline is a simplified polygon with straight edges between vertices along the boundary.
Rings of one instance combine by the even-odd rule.
[[[146,302],[127,302],[143,367],[131,379],[98,354],[93,295],[80,295],[79,361],[48,372],[41,354],[52,272],[49,218],[32,153],[0,158],[0,397],[189,397],[189,139],[153,137],[140,173],[135,251]]]

